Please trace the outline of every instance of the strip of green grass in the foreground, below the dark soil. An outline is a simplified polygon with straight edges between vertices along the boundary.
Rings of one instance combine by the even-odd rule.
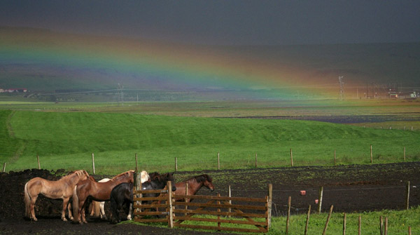
[[[409,210],[382,210],[375,212],[365,213],[346,213],[346,234],[358,234],[358,217],[360,216],[360,232],[361,234],[381,234],[379,229],[380,217],[388,218],[388,234],[394,235],[405,235],[408,234],[408,227],[411,227],[412,234],[416,234],[416,231],[420,230],[420,220],[418,215],[420,213],[420,207],[410,208]],[[209,218],[216,218],[208,216]],[[325,229],[325,222],[327,220],[328,213],[314,213],[312,212],[309,216],[307,234],[323,234]],[[326,235],[343,234],[343,213],[332,213],[328,222],[328,227],[325,231]],[[285,234],[286,235],[286,216],[272,217],[272,224],[269,228],[268,235],[271,234]],[[264,220],[258,220],[263,222]],[[288,235],[301,235],[304,234],[304,229],[307,222],[307,214],[302,213],[299,215],[290,215],[290,221],[288,226]],[[123,223],[134,223],[141,224],[138,222],[127,221]],[[216,223],[210,222],[183,222],[188,224],[196,225],[207,225],[216,226]],[[384,222],[383,222],[384,223]],[[147,224],[149,225],[149,224]],[[168,227],[167,224],[162,223],[158,226]],[[223,227],[234,227],[242,229],[255,229],[252,225],[239,225],[239,224],[222,224]],[[384,226],[384,224],[383,224]],[[186,229],[179,229],[180,231],[186,231]],[[211,230],[209,230],[211,231]],[[214,230],[213,230],[214,231]],[[235,234],[229,231],[223,231],[223,234]],[[248,233],[255,234],[255,233]]]

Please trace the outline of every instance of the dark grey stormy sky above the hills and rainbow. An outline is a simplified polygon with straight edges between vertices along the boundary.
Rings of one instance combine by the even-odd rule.
[[[0,0],[0,26],[198,44],[420,41],[420,1]]]

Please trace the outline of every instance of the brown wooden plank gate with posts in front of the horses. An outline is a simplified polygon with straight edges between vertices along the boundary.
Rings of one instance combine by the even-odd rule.
[[[168,182],[167,188],[172,188],[171,182]],[[146,193],[161,194],[156,198],[142,197],[142,194]],[[173,192],[168,193],[166,189],[134,190],[134,221],[168,222],[169,227],[193,229],[267,232],[271,223],[272,184],[269,184],[268,194],[265,198],[255,199],[220,196],[220,194],[218,196],[174,195]],[[141,203],[142,201],[153,202],[145,205]],[[153,208],[157,208],[158,211],[150,211]],[[165,215],[165,217],[148,218],[155,215]],[[226,224],[231,226],[225,226]],[[235,224],[241,224],[241,227],[235,227]]]

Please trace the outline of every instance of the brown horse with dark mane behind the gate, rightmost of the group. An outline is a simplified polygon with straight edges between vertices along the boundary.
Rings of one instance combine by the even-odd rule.
[[[214,190],[213,180],[207,174],[197,175],[194,177],[190,177],[188,180],[179,182],[175,184],[176,191],[174,194],[176,195],[185,195],[186,194],[186,183],[188,183],[188,195],[195,195],[197,194],[198,190],[201,187],[205,186],[211,191]],[[192,201],[193,199],[188,199],[188,201]]]

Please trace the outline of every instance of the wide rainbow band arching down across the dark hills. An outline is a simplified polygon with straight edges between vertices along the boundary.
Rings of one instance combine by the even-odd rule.
[[[0,65],[20,65],[27,74],[93,79],[101,88],[121,81],[125,88],[253,90],[260,98],[322,94],[305,88],[308,74],[300,72],[299,66],[253,57],[235,48],[0,29]]]

